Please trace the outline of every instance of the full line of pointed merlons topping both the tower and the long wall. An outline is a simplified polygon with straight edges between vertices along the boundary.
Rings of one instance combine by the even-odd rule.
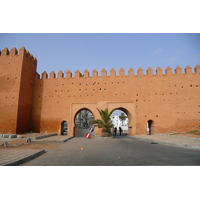
[[[24,56],[26,59],[30,60],[30,62],[37,64],[37,59],[35,57],[33,57],[32,54],[29,53],[29,51],[27,51],[25,49],[25,47],[21,47],[18,50],[14,47],[12,49],[8,49],[8,48],[4,48],[2,51],[0,51],[0,57],[7,57],[7,56]],[[164,73],[163,73],[164,71]],[[90,77],[94,77],[94,78],[99,78],[99,77],[128,77],[128,76],[133,76],[133,77],[143,77],[143,76],[166,76],[166,75],[182,75],[182,74],[200,74],[200,65],[196,65],[196,67],[194,68],[194,73],[192,72],[192,67],[190,67],[189,65],[187,65],[185,67],[185,69],[183,70],[180,66],[177,66],[174,70],[174,73],[172,73],[172,68],[171,67],[167,67],[165,70],[163,70],[161,67],[157,67],[157,69],[155,70],[155,73],[153,73],[153,69],[151,67],[148,67],[148,69],[146,70],[146,73],[144,73],[144,70],[139,67],[137,70],[137,73],[134,73],[134,69],[130,68],[128,70],[128,75],[125,75],[125,70],[123,68],[121,68],[119,70],[119,75],[116,75],[116,70],[114,68],[112,68],[110,70],[110,75],[107,75],[107,70],[106,69],[102,69],[101,70],[101,75],[99,75],[98,71],[96,69],[94,69],[92,71],[92,75],[90,76],[89,71],[86,69],[83,74],[79,71],[76,70],[74,73],[74,77],[72,75],[72,72],[70,70],[68,70],[66,73],[63,73],[62,71],[59,71],[57,76],[55,74],[55,72],[51,72],[50,74],[47,74],[47,72],[43,72],[41,75],[39,75],[39,78],[90,78]]]

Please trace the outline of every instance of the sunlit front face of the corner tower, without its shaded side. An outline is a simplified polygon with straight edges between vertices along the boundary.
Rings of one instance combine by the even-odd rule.
[[[0,55],[0,132],[16,133],[22,57],[15,48]]]

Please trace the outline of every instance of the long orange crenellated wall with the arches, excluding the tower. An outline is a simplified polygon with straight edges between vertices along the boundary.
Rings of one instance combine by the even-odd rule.
[[[40,116],[36,126],[40,127],[41,132],[59,134],[61,122],[67,121],[72,134],[78,111],[89,109],[96,118],[99,117],[96,108],[104,108],[113,102],[119,105],[114,109],[121,108],[129,113],[129,123],[131,127],[134,126],[133,135],[146,134],[148,120],[154,122],[154,133],[199,130],[199,70],[198,65],[194,72],[190,66],[186,66],[184,71],[177,66],[175,72],[170,67],[165,72],[158,67],[154,74],[149,67],[146,73],[139,68],[134,74],[131,68],[128,75],[125,75],[124,69],[116,75],[112,69],[107,75],[103,69],[100,76],[97,70],[92,72],[92,76],[85,70],[83,77],[80,77],[78,70],[74,77],[70,71],[66,74],[60,71],[57,75],[44,72],[35,81],[39,92],[35,90],[34,93],[35,121]],[[131,112],[125,103],[133,103]]]

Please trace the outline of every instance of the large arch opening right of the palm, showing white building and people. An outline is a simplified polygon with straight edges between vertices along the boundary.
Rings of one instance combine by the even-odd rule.
[[[111,114],[111,121],[114,125],[114,128],[112,130],[113,135],[119,135],[119,136],[128,135],[129,119],[128,119],[128,113],[125,109],[123,108],[114,109]]]

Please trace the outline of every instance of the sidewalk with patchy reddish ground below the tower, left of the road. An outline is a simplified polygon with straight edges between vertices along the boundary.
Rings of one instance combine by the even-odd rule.
[[[0,144],[7,142],[8,147],[0,148],[0,166],[17,166],[46,152],[46,148],[52,148],[49,144],[63,143],[73,138],[68,135],[43,135],[31,137],[31,142],[27,143],[27,138],[1,138]],[[42,147],[42,149],[40,149]],[[44,148],[44,149],[43,149]],[[53,147],[54,148],[54,147]]]

